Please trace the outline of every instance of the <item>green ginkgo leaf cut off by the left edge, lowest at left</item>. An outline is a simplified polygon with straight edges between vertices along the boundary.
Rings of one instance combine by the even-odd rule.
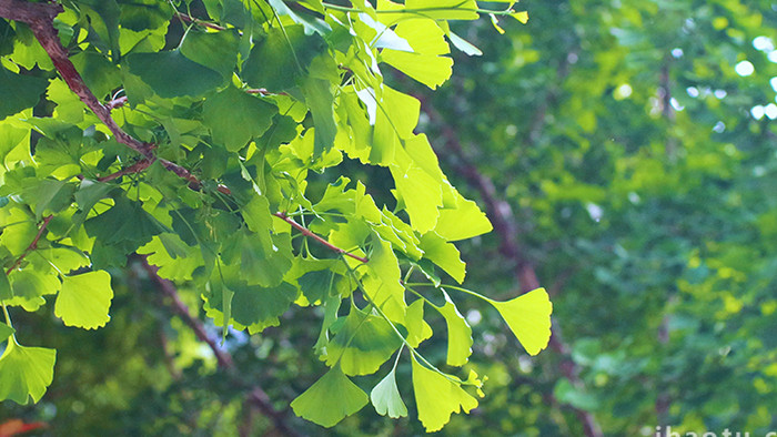
[[[54,377],[57,350],[8,342],[0,357],[0,400],[26,405],[40,400]]]

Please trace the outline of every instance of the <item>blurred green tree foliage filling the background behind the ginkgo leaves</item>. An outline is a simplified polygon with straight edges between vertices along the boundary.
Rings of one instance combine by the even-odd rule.
[[[528,24],[504,20],[501,38],[487,20],[462,27],[484,54],[454,53],[440,90],[394,78],[422,100],[446,174],[495,225],[460,246],[468,286],[500,298],[542,285],[555,308],[551,350],[529,358],[493,308],[466,302],[481,348],[470,366],[488,395],[443,433],[777,430],[777,3],[521,6]],[[367,185],[390,181],[361,171]],[[199,302],[172,299],[140,260],[112,275],[112,321],[97,333],[21,316],[60,350],[58,376],[39,405],[3,405],[0,423],[40,420],[50,427],[36,433],[54,435],[324,433],[287,409],[321,370],[312,349],[292,347],[315,343],[311,312],[232,333],[215,356],[184,316]],[[423,433],[369,409],[326,433]]]

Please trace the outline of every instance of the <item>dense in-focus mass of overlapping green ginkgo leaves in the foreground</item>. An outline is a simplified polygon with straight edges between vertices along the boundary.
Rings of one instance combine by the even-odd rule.
[[[113,297],[105,268],[140,254],[161,277],[194,289],[224,335],[228,326],[256,333],[278,325],[294,303],[323,306],[315,350],[330,370],[292,403],[306,419],[333,426],[369,400],[382,415],[406,416],[395,372],[407,364],[403,352],[427,430],[476,407],[467,390],[480,393],[477,377],[443,373],[420,348],[434,334],[425,318],[438,316],[446,364],[466,364],[472,331],[441,277],[464,281],[453,242],[491,223],[448,183],[416,132],[418,100],[384,84],[382,69],[438,87],[452,71],[447,40],[477,52],[447,20],[473,20],[481,10],[474,0],[356,3],[208,1],[209,17],[199,20],[218,24],[188,18],[178,40],[165,30],[172,3],[69,3],[59,26],[72,33],[63,34],[87,35],[62,38],[77,52],[74,68],[98,99],[128,98],[113,118],[163,160],[123,148],[65,82],[18,73],[52,70],[39,47],[3,52],[3,65],[16,70],[0,69],[10,87],[0,91],[14,89],[0,103],[0,257],[13,266],[0,282],[2,305],[36,311],[56,295],[54,315],[67,326],[103,326]],[[493,12],[509,14],[509,7]],[[56,120],[31,116],[44,90]],[[30,129],[43,138],[19,152]],[[344,156],[387,169],[394,210],[346,176],[309,199],[310,171]],[[300,232],[305,240],[296,243]],[[415,276],[428,278],[428,296],[410,288]],[[487,301],[529,354],[545,347],[544,291]],[[12,339],[0,358],[0,397],[37,402],[51,382],[53,350],[18,345],[10,324],[0,334]],[[371,396],[351,380],[392,356]]]

